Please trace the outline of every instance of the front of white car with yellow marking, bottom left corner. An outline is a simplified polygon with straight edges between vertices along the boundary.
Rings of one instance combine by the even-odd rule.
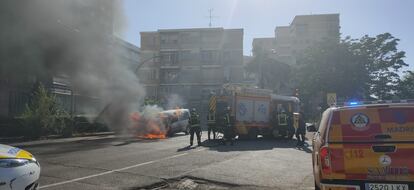
[[[0,144],[0,190],[37,189],[40,165],[20,148]]]

